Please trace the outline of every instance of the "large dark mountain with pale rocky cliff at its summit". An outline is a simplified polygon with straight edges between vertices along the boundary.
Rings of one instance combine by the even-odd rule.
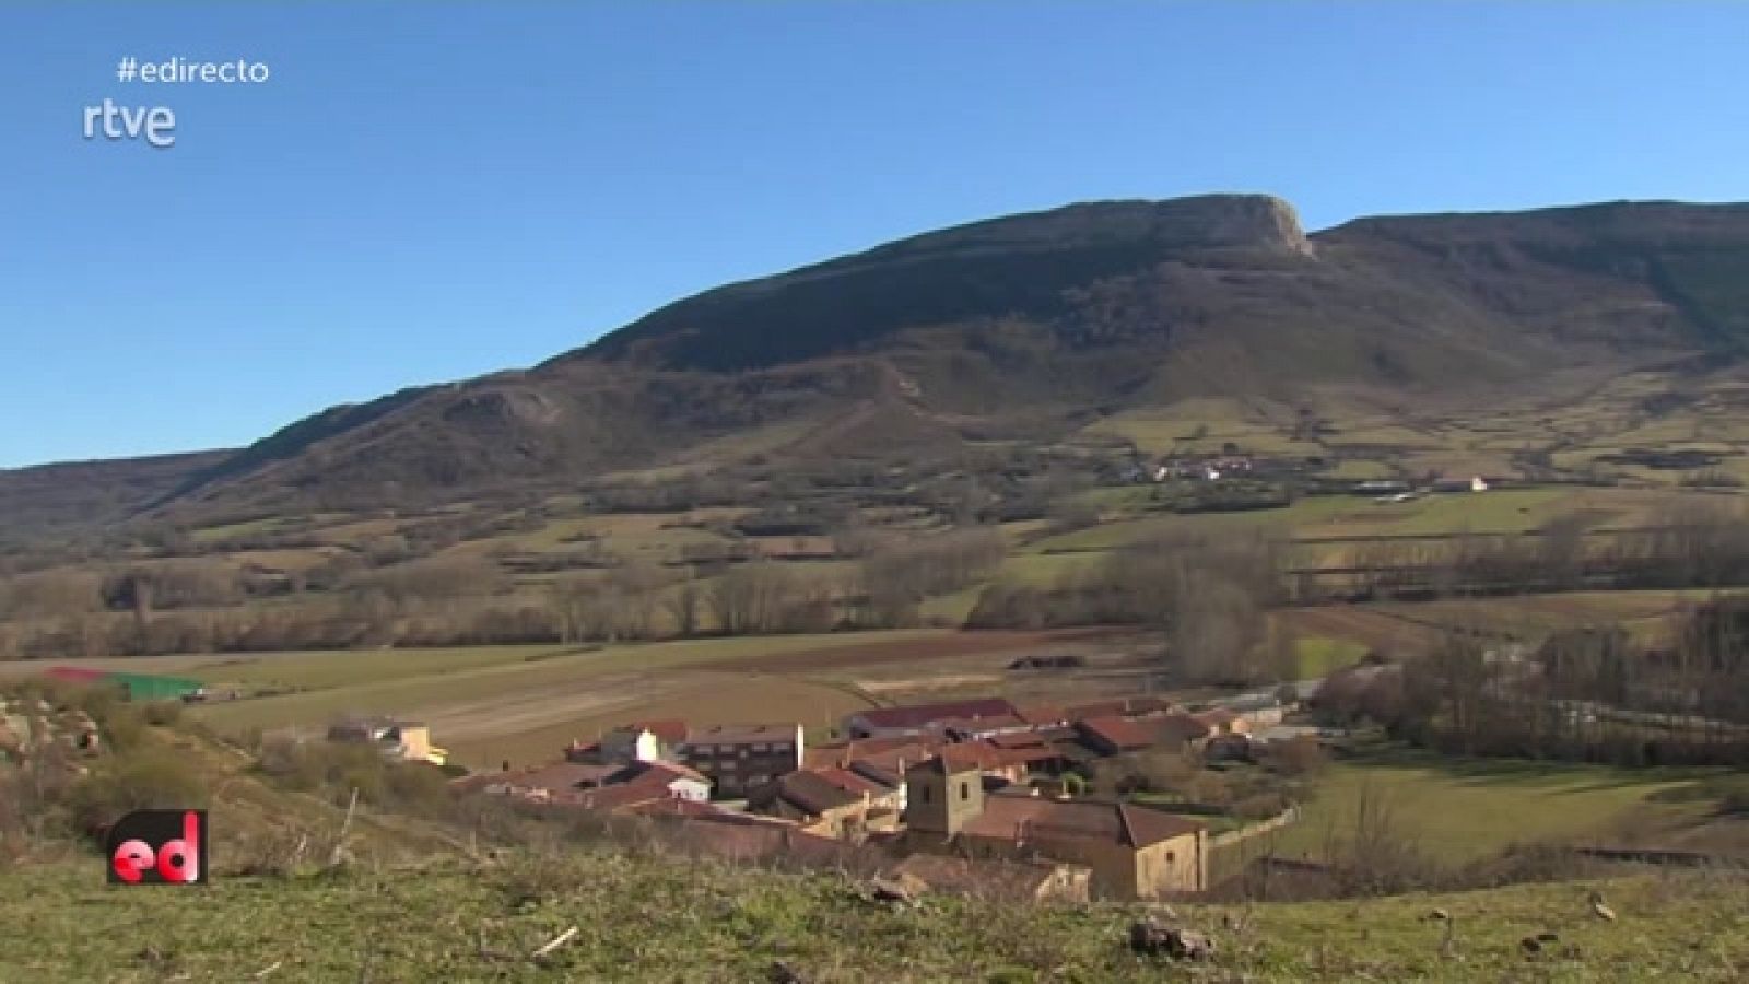
[[[1266,196],[1070,205],[719,287],[528,371],[334,410],[163,504],[458,501],[778,427],[792,455],[929,457],[1205,396],[1289,413],[1557,399],[1557,371],[1739,359],[1746,284],[1744,205],[1382,217],[1310,236]]]

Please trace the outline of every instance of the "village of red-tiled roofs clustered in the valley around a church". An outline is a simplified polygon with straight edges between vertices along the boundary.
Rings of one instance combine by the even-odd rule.
[[[1125,795],[1116,767],[1139,755],[1198,769],[1258,762],[1272,748],[1315,742],[1317,728],[1289,723],[1308,692],[1289,685],[1196,709],[1156,695],[874,707],[847,716],[822,744],[808,744],[794,721],[637,720],[572,741],[540,765],[504,762],[456,777],[451,791],[540,812],[647,818],[733,860],[854,854],[918,889],[1158,900],[1205,891],[1217,846],[1273,830],[1294,811],[1216,830],[1195,809]],[[406,762],[444,756],[416,721],[348,720],[329,739],[374,742]]]

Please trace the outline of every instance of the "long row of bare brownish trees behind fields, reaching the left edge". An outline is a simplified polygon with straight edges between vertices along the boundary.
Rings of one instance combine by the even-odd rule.
[[[745,560],[701,569],[624,562],[514,585],[484,555],[355,569],[296,604],[196,594],[166,566],[114,581],[54,574],[12,595],[31,618],[0,623],[0,658],[268,651],[353,646],[614,643],[700,634],[757,636],[902,627],[920,602],[986,576],[1004,555],[995,531],[950,531],[871,546],[852,571]],[[201,567],[201,573],[212,573]],[[222,583],[222,581],[220,581]],[[166,588],[168,585],[168,588]],[[94,592],[98,604],[89,602]],[[168,602],[168,604],[166,604]],[[194,604],[206,602],[206,604]]]

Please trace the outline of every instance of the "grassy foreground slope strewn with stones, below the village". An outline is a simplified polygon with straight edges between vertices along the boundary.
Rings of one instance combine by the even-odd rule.
[[[96,860],[0,874],[0,980],[759,982],[778,961],[810,982],[1174,977],[1125,947],[1133,909],[932,896],[894,912],[836,875],[593,849],[198,891],[98,879]],[[1620,921],[1590,914],[1592,888]],[[1739,877],[1683,874],[1177,916],[1221,947],[1195,972],[1212,980],[1740,980],[1746,903]],[[1558,940],[1527,954],[1536,933]]]

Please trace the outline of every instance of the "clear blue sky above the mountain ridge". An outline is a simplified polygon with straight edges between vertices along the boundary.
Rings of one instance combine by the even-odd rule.
[[[243,445],[1074,200],[1749,200],[1746,51],[1725,2],[14,4],[0,467]],[[84,140],[105,96],[175,147]]]

